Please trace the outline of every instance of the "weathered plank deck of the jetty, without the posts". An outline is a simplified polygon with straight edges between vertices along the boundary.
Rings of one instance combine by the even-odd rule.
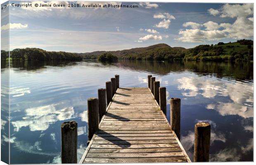
[[[149,88],[118,88],[80,163],[191,162]]]

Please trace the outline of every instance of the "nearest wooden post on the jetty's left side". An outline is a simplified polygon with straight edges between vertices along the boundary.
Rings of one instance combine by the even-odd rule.
[[[62,163],[77,163],[77,123],[64,122],[61,125]]]

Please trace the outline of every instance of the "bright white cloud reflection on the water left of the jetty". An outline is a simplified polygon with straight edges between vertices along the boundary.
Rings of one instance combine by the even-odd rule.
[[[67,120],[74,115],[73,107],[57,110],[57,104],[33,107],[25,110],[26,116],[22,120],[13,121],[14,131],[18,132],[21,127],[29,126],[31,131],[47,130],[50,124],[59,120]]]

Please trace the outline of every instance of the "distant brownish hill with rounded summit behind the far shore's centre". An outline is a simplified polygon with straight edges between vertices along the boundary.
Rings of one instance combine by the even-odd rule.
[[[119,59],[138,59],[138,60],[165,60],[183,58],[184,47],[170,47],[167,44],[156,44],[149,47],[137,47],[129,50],[118,51],[96,51],[80,54],[84,59],[96,59],[103,53],[111,53]]]

